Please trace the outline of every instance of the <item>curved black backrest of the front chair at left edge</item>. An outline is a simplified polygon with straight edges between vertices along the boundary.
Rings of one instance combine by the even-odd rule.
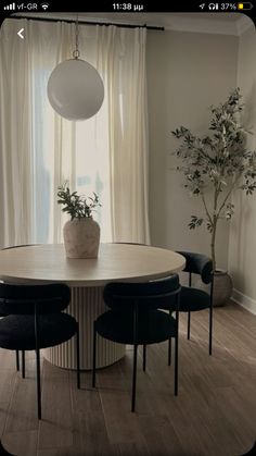
[[[71,289],[65,284],[13,285],[0,283],[0,313],[59,313],[71,301]]]

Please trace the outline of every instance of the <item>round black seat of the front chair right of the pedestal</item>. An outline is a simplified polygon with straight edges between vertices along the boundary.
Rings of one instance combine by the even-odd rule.
[[[133,344],[133,313],[110,310],[95,321],[100,335],[120,344]],[[138,344],[156,344],[176,335],[176,320],[161,310],[138,316]]]

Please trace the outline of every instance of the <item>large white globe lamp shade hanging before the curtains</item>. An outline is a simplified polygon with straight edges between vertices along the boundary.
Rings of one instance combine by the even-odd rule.
[[[98,71],[80,59],[65,60],[51,73],[48,98],[52,108],[71,121],[90,119],[104,99],[104,86]]]

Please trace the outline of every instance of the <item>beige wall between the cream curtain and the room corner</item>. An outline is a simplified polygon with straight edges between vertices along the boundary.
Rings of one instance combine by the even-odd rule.
[[[204,227],[190,231],[191,214],[202,205],[189,197],[170,156],[180,125],[197,134],[208,126],[208,107],[236,86],[239,38],[183,32],[149,32],[148,90],[150,127],[150,223],[152,244],[209,254]],[[229,225],[219,226],[217,266],[227,268]],[[256,283],[256,281],[255,281]]]

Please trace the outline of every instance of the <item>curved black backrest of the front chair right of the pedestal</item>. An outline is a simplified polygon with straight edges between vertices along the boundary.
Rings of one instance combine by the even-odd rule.
[[[112,282],[103,292],[105,304],[115,311],[132,310],[137,304],[140,310],[158,309],[167,305],[170,296],[180,291],[179,276],[174,274],[167,279],[145,283]]]

